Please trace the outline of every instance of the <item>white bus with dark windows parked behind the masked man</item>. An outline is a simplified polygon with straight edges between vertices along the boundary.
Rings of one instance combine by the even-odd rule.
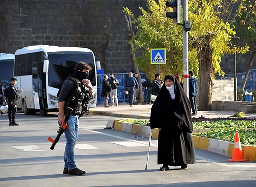
[[[14,77],[17,78],[17,88],[24,88],[17,107],[25,115],[35,114],[36,111],[40,111],[41,116],[46,116],[50,111],[57,112],[57,92],[79,61],[92,67],[88,79],[92,82],[95,97],[89,106],[96,107],[97,78],[92,50],[47,45],[28,46],[15,52]]]

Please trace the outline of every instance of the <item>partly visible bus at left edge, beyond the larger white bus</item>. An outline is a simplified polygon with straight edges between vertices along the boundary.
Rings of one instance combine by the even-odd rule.
[[[14,76],[14,54],[0,53],[0,79],[7,86]]]

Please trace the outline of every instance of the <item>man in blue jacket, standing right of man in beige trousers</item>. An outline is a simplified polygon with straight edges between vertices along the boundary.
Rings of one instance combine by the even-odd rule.
[[[125,91],[128,92],[130,106],[133,106],[135,88],[138,88],[138,90],[140,90],[138,81],[132,75],[133,75],[132,72],[130,72],[125,82]]]

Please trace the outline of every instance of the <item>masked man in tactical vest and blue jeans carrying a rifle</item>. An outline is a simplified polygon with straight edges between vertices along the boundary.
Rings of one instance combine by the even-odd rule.
[[[64,153],[63,174],[84,175],[86,172],[76,167],[74,161],[74,147],[78,138],[78,117],[83,115],[83,104],[94,97],[94,90],[90,80],[87,79],[92,68],[85,62],[79,62],[74,67],[75,73],[67,78],[59,92],[59,125],[65,124],[65,115],[68,109],[73,109],[68,118],[64,131],[66,136],[66,148]],[[86,97],[89,97],[90,99]]]

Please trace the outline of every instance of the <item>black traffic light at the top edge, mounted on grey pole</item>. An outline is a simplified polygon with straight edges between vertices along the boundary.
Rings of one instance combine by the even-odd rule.
[[[174,23],[180,24],[180,1],[181,0],[173,0],[166,1],[166,7],[173,8],[173,12],[166,12],[166,17],[173,19]]]

